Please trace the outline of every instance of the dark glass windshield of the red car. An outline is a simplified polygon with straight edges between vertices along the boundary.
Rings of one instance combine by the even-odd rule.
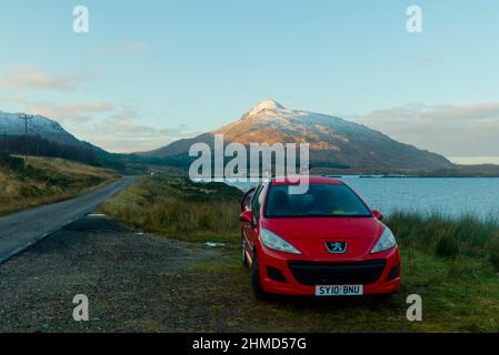
[[[289,185],[271,186],[266,217],[370,217],[365,203],[350,187],[340,184],[310,184],[305,194],[290,194]]]

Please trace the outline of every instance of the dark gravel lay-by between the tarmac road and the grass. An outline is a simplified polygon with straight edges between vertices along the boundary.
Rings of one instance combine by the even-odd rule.
[[[217,253],[87,216],[0,265],[0,332],[188,331],[197,321],[177,301],[190,268]],[[90,322],[72,318],[77,294]]]

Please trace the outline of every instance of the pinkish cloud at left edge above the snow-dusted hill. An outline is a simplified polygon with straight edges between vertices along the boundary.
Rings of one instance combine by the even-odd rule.
[[[3,90],[73,90],[82,81],[88,80],[92,74],[54,74],[50,75],[34,67],[23,65],[12,69],[9,73],[0,77],[0,89]]]

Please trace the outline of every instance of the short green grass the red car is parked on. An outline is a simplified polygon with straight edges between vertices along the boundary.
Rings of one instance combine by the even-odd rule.
[[[499,332],[499,283],[489,266],[458,264],[402,250],[403,278],[391,298],[276,297],[256,301],[240,253],[198,264],[186,285],[189,304],[209,303],[203,331],[220,332]],[[423,321],[406,317],[407,296],[422,297]]]

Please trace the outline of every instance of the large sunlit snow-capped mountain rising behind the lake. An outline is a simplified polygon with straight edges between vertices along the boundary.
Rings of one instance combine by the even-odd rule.
[[[187,156],[191,144],[212,145],[213,134],[224,141],[250,143],[309,143],[312,166],[355,169],[421,170],[446,169],[446,158],[397,142],[381,132],[343,119],[287,109],[275,100],[263,100],[227,126],[194,139],[173,142],[147,153],[149,156]]]

